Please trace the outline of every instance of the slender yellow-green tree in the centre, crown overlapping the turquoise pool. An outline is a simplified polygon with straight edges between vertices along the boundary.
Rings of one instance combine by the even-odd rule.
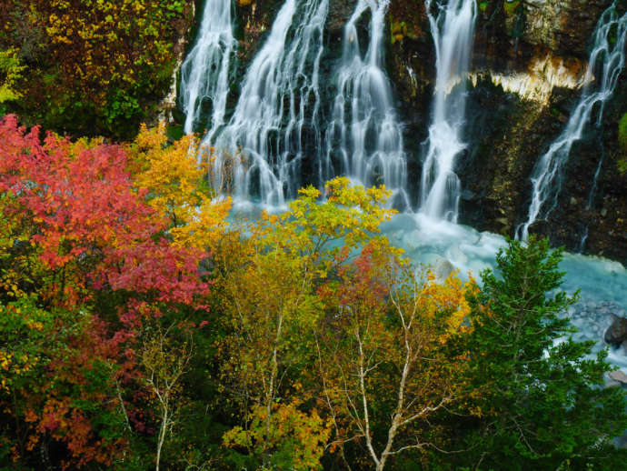
[[[219,262],[223,276],[215,291],[223,296],[230,332],[218,346],[222,384],[244,422],[224,443],[246,448],[248,456],[258,457],[260,469],[319,466],[322,450],[314,448],[326,442],[327,426],[317,413],[306,412],[309,405],[294,403],[295,396],[312,400],[299,378],[311,370],[314,331],[323,314],[317,286],[392,215],[384,207],[389,195],[384,187],[352,187],[347,178],[327,183],[325,202],[317,189],[304,188],[283,215],[264,213],[248,225],[237,256]],[[294,427],[295,435],[310,429],[311,436],[279,443],[286,426]]]

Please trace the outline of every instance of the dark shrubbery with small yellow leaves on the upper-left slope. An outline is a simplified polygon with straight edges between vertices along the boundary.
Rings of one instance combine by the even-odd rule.
[[[19,50],[28,65],[12,111],[72,135],[134,136],[169,86],[185,5],[9,0],[0,47]]]

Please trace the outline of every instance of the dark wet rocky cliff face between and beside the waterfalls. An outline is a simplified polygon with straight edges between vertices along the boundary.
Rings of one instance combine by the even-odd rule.
[[[240,74],[254,56],[282,0],[235,0],[241,41]],[[356,0],[331,0],[323,80],[333,88],[343,25]],[[458,159],[463,185],[461,222],[513,236],[530,202],[533,166],[561,133],[584,85],[590,40],[611,0],[478,0],[478,23],[469,77],[469,149]],[[619,0],[627,9],[627,0]],[[392,0],[388,73],[403,119],[413,202],[433,95],[433,39],[423,0]],[[623,74],[625,75],[625,74]],[[241,76],[241,75],[240,75]],[[565,169],[558,207],[532,232],[554,244],[627,261],[627,177],[618,121],[627,112],[622,80],[601,128],[575,145]],[[598,188],[589,200],[600,157]]]

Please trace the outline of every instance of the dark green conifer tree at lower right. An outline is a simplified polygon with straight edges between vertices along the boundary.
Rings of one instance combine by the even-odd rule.
[[[465,466],[614,469],[620,459],[611,441],[627,428],[625,396],[603,387],[606,351],[594,358],[594,342],[572,340],[561,314],[578,295],[558,290],[561,260],[547,240],[512,241],[469,299],[473,332],[461,342],[479,419],[463,434]]]

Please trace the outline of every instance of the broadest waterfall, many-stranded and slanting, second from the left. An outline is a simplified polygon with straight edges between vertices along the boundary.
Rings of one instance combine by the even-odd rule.
[[[320,60],[329,0],[285,0],[244,77],[229,123],[212,129],[214,187],[231,174],[235,198],[281,206],[296,195],[304,142],[321,147]],[[214,137],[211,137],[213,136]]]

